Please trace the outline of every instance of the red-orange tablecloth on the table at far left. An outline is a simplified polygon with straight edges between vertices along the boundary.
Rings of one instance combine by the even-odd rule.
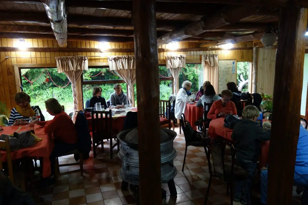
[[[12,160],[15,159],[20,159],[22,157],[43,157],[43,178],[49,177],[51,174],[51,169],[50,169],[50,160],[49,156],[51,155],[51,152],[54,148],[54,143],[51,140],[51,136],[48,136],[47,134],[44,133],[44,128],[39,126],[35,126],[35,135],[37,135],[39,138],[42,138],[43,140],[41,142],[36,143],[35,145],[23,149],[19,149],[16,151],[11,152],[11,158]],[[3,132],[0,133],[6,134],[6,135],[11,135],[15,131],[17,131],[19,126],[9,126],[9,127],[3,127]],[[38,128],[38,129],[36,129]],[[27,131],[29,128],[26,126],[22,126],[20,131]],[[6,161],[6,152],[1,151],[1,161],[4,162]]]

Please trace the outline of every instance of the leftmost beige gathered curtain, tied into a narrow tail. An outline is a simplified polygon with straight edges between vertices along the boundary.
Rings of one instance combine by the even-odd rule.
[[[58,73],[65,73],[72,84],[73,91],[73,121],[75,122],[75,111],[77,111],[76,82],[79,80],[83,70],[88,70],[88,58],[86,56],[62,56],[56,57]]]

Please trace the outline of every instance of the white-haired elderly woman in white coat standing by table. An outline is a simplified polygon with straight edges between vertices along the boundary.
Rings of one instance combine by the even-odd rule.
[[[175,118],[180,119],[182,113],[185,111],[186,103],[189,102],[188,91],[190,90],[192,83],[188,80],[182,83],[182,88],[176,94],[175,100]]]

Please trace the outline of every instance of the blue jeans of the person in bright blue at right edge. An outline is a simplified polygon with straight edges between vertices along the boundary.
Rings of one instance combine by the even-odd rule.
[[[266,204],[267,198],[267,170],[261,171],[261,203]],[[296,171],[294,172],[294,186],[304,186],[305,190],[302,195],[302,204],[308,204],[308,175],[300,175]]]

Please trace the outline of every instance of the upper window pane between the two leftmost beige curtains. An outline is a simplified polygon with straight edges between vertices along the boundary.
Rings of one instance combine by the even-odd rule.
[[[91,80],[121,80],[113,71],[109,68],[89,68],[89,70],[83,71],[83,81]]]

